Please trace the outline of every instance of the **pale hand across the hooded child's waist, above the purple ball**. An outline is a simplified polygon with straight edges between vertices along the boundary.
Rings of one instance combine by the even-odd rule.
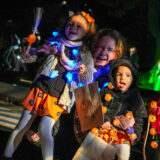
[[[127,129],[129,127],[133,127],[133,125],[135,124],[134,117],[131,119],[127,119],[125,116],[119,115],[119,116],[116,116],[115,118],[119,119],[119,121],[120,121],[119,127],[121,127],[122,129]]]

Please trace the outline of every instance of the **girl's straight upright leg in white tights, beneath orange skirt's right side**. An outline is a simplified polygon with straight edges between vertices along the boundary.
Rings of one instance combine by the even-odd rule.
[[[54,124],[55,120],[53,118],[44,116],[39,125],[43,160],[53,160],[54,139],[52,128]]]

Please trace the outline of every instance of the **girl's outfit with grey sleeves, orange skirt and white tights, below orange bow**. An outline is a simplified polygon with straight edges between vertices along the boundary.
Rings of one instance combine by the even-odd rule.
[[[64,41],[67,42],[67,40]],[[63,42],[61,41],[61,43]],[[70,51],[75,48],[79,49],[78,57],[71,55]],[[82,56],[81,49],[84,48],[82,48],[82,42],[77,46],[70,45],[69,47],[65,44],[64,54],[71,60],[70,62],[73,62],[75,65],[75,68],[72,70],[66,69],[66,66],[68,68],[70,66],[69,64],[61,63],[60,56],[48,56],[50,61],[47,71],[46,68],[43,68],[44,70],[40,71],[31,91],[22,102],[27,110],[24,110],[20,123],[11,134],[11,140],[9,141],[4,153],[6,157],[12,157],[15,150],[15,147],[13,146],[14,141],[12,140],[14,140],[17,135],[23,136],[23,134],[30,128],[34,121],[34,116],[36,115],[41,116],[39,133],[43,158],[47,155],[53,155],[54,140],[52,137],[52,128],[55,122],[58,120],[62,112],[70,112],[72,104],[74,103],[73,89],[78,87],[80,84],[84,85],[91,82],[93,78],[92,56],[90,52],[83,52]],[[84,50],[86,51],[87,49],[85,48]],[[79,65],[82,63],[86,65],[87,69],[84,74],[79,75],[78,69]],[[53,78],[50,77],[50,73],[52,72],[57,73]],[[69,77],[67,77],[68,74]],[[70,77],[73,77],[73,79],[70,79]],[[21,138],[16,139],[16,144],[18,145],[20,141]],[[51,157],[51,159],[52,158],[53,157]]]

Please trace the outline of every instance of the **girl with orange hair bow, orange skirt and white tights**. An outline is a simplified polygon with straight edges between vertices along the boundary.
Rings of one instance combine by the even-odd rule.
[[[79,84],[89,83],[93,78],[92,56],[83,42],[87,37],[89,40],[94,31],[94,19],[89,14],[80,12],[69,19],[64,33],[56,37],[58,43],[53,42],[52,52],[49,51],[49,66],[43,66],[44,70],[38,74],[31,91],[22,102],[25,109],[8,140],[4,159],[13,156],[36,116],[41,116],[39,136],[42,156],[44,160],[53,160],[52,128],[61,113],[70,112],[74,97],[72,90]]]

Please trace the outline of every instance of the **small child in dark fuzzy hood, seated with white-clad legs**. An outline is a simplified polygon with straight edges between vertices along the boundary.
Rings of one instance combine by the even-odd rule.
[[[141,138],[143,119],[147,118],[147,112],[137,88],[138,76],[135,65],[127,58],[112,60],[109,78],[112,85],[103,88],[100,93],[103,107],[107,107],[108,112],[104,113],[105,123],[102,124],[98,136],[105,136],[102,139],[95,138],[89,133],[73,160],[80,160],[84,155],[87,160],[113,160],[115,155],[119,160],[128,160],[130,142],[135,144]],[[125,116],[128,112],[133,115],[131,119]],[[118,124],[115,123],[115,119]],[[111,131],[110,128],[114,130]]]

